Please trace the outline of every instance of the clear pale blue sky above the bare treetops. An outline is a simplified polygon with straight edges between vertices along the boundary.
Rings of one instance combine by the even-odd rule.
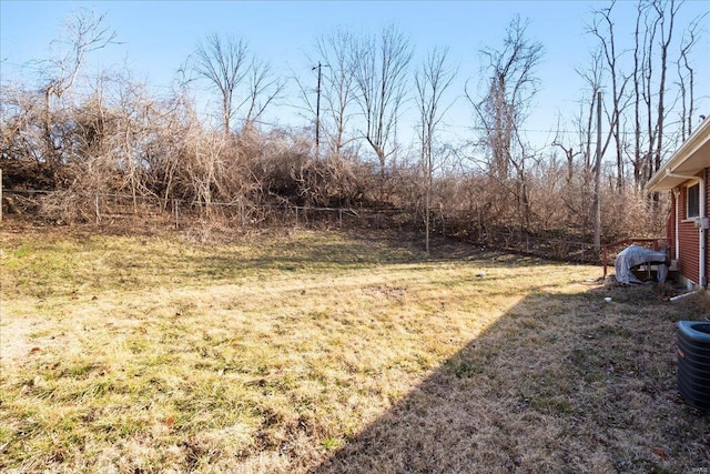
[[[276,73],[297,74],[314,82],[313,46],[317,36],[345,27],[355,33],[372,33],[394,23],[408,36],[420,58],[435,46],[449,47],[452,62],[458,65],[458,79],[450,99],[463,93],[467,79],[476,83],[478,51],[501,43],[506,26],[518,13],[528,18],[528,38],[540,41],[546,50],[537,71],[541,90],[527,128],[555,128],[559,112],[567,119],[577,110],[581,81],[574,67],[587,63],[594,40],[585,33],[590,10],[607,2],[586,1],[0,1],[0,72],[2,79],[32,72],[28,61],[51,56],[52,39],[62,34],[62,22],[78,8],[106,12],[106,20],[121,44],[94,54],[89,63],[101,67],[126,64],[138,80],[156,91],[170,85],[175,71],[194,51],[195,43],[212,32],[229,32],[248,41],[252,51],[271,62]],[[628,14],[618,28],[632,31],[633,2],[617,8]],[[710,10],[710,0],[690,0],[682,11],[688,19]],[[707,19],[710,21],[710,17]],[[627,24],[623,24],[628,21]],[[708,22],[706,21],[706,23]],[[710,28],[708,28],[710,30]],[[621,30],[620,30],[621,31]],[[680,31],[678,32],[680,34]],[[710,107],[710,31],[696,51],[698,95]],[[295,89],[291,102],[297,101]],[[447,117],[452,130],[464,130],[470,121],[470,107],[458,101]],[[295,109],[284,104],[272,109],[272,120],[297,124]],[[303,120],[302,120],[303,121]],[[294,123],[296,122],[296,123]],[[413,120],[410,121],[413,122]],[[540,133],[540,135],[547,133]]]

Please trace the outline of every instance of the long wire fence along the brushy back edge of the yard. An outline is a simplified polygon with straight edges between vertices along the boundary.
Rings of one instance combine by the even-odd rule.
[[[155,195],[121,193],[75,193],[65,191],[3,190],[8,214],[37,215],[55,223],[92,222],[98,225],[130,226],[136,219],[154,220],[174,229],[189,229],[205,221],[222,221],[233,228],[408,228],[424,232],[424,221],[416,209],[329,208],[313,205],[254,204],[244,200],[197,202],[163,199]],[[519,230],[487,231],[473,223],[433,216],[434,234],[456,236],[471,245],[551,260],[599,264],[602,259],[594,244],[566,239],[540,238]],[[469,226],[469,228],[467,228]],[[470,231],[470,232],[469,232]]]

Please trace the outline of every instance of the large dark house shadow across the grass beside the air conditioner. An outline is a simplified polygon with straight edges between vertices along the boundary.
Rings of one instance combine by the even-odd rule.
[[[676,389],[689,316],[642,288],[528,295],[311,472],[710,468],[710,417]]]

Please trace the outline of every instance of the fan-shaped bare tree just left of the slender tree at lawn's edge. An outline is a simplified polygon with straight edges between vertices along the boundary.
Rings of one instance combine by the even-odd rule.
[[[412,48],[409,41],[390,26],[379,37],[359,41],[353,54],[357,102],[365,121],[363,135],[377,155],[384,182],[387,159],[396,150],[397,119],[407,92]]]

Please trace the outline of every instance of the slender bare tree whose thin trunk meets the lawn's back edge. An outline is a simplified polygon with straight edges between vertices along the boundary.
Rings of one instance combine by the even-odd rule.
[[[436,132],[442,123],[446,108],[443,108],[442,99],[446,90],[452,85],[456,70],[447,65],[448,48],[432,50],[420,69],[415,73],[416,102],[419,109],[419,140],[422,144],[420,162],[425,180],[425,232],[426,251],[429,251],[430,210],[432,210],[432,182],[435,168],[434,145]]]

